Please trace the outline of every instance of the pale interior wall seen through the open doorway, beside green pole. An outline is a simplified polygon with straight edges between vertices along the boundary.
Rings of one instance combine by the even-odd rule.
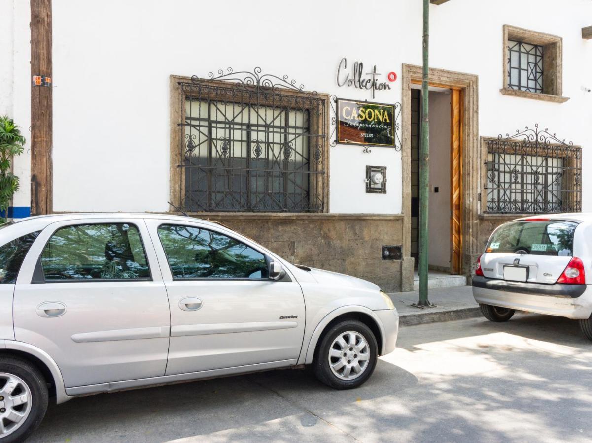
[[[450,99],[449,92],[430,92],[429,264],[445,268],[450,266]]]

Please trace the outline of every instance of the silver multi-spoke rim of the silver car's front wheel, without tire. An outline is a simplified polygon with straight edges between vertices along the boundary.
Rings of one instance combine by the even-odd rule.
[[[358,378],[368,366],[370,347],[362,334],[342,332],[329,348],[329,367],[342,380]]]

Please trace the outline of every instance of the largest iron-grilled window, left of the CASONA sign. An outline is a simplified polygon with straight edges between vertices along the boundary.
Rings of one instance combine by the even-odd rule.
[[[326,99],[221,83],[181,85],[185,211],[323,212]]]

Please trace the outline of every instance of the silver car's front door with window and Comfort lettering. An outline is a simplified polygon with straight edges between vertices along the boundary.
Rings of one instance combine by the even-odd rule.
[[[170,302],[167,375],[295,364],[305,309],[293,276],[268,279],[266,256],[257,245],[223,229],[146,223]]]

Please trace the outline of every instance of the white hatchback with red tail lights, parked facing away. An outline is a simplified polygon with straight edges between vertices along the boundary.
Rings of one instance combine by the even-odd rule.
[[[473,296],[485,318],[516,310],[576,319],[592,340],[592,214],[519,218],[500,225],[477,260]]]

